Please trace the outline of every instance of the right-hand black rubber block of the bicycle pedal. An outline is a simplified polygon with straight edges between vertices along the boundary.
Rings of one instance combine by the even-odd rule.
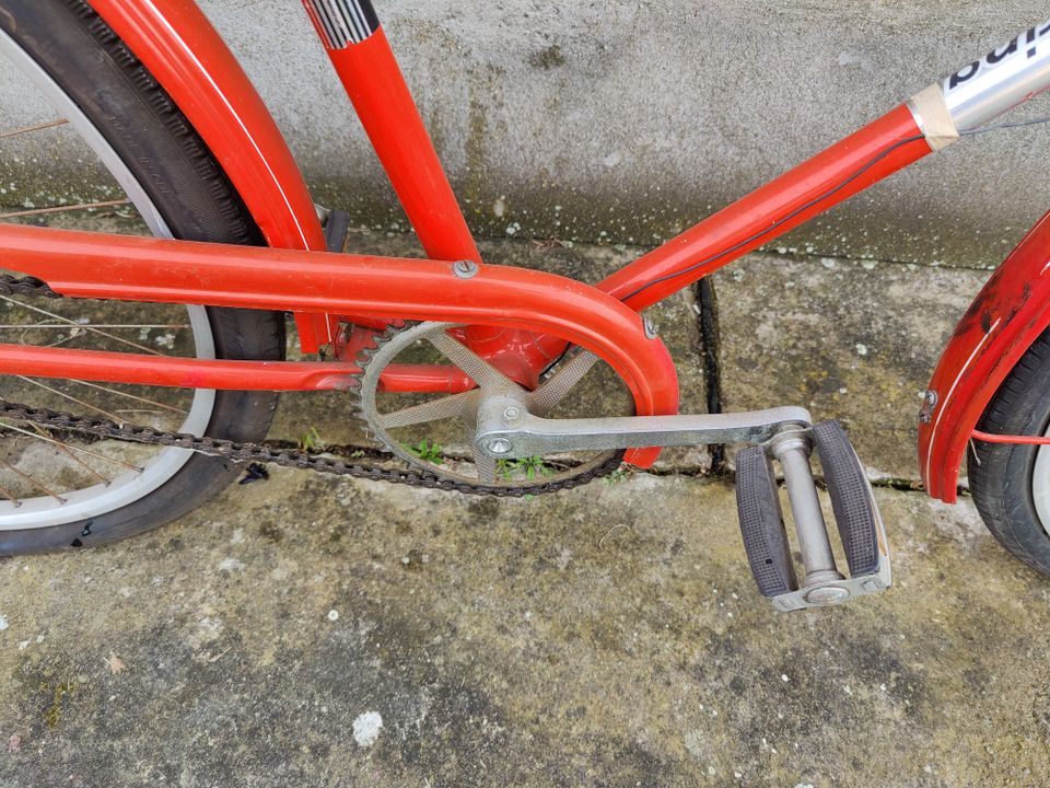
[[[850,576],[874,575],[878,570],[878,512],[864,466],[838,421],[814,425],[813,438]]]

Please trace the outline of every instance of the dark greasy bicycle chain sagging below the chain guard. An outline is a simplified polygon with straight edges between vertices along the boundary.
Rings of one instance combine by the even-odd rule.
[[[0,294],[36,296],[49,299],[63,298],[39,279],[34,277],[12,277],[5,274],[0,275]],[[0,398],[0,418],[28,421],[42,427],[81,434],[92,434],[98,438],[189,449],[199,454],[222,457],[236,463],[260,462],[283,467],[335,474],[338,476],[372,479],[374,482],[389,482],[392,484],[404,484],[411,487],[466,493],[468,495],[494,496],[499,498],[522,498],[529,495],[547,495],[563,489],[572,489],[573,487],[587,484],[602,476],[607,476],[620,465],[619,455],[614,455],[607,462],[586,473],[559,482],[548,482],[529,487],[495,487],[453,482],[452,479],[439,478],[438,476],[416,471],[399,471],[377,467],[375,465],[360,465],[342,459],[324,457],[310,454],[308,452],[285,450],[265,442],[242,443],[221,438],[200,438],[185,432],[158,430],[152,427],[130,422],[117,424],[109,419],[77,416],[75,414],[62,410],[35,408],[21,403],[11,403],[3,398]]]

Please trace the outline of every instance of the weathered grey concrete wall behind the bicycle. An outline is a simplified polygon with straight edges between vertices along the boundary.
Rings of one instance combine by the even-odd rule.
[[[1041,13],[1028,0],[376,4],[480,232],[641,245],[849,134]],[[255,79],[318,198],[349,207],[359,221],[404,228],[299,3],[201,5]],[[0,114],[13,118],[25,96],[2,76]],[[1030,107],[1040,111],[1045,101]],[[75,155],[47,144],[43,155],[67,165],[50,190],[82,189]],[[1050,127],[968,140],[783,245],[994,265],[1050,206],[1040,155],[1048,148]],[[0,167],[16,179],[10,161]]]

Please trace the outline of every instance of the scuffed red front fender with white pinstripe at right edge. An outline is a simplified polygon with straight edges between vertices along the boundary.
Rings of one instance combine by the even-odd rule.
[[[955,502],[959,466],[981,414],[1048,325],[1050,213],[984,285],[933,374],[919,427],[919,467],[932,497]]]

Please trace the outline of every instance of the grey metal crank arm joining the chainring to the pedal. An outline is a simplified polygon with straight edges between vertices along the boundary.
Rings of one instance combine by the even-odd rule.
[[[563,451],[609,451],[643,447],[763,443],[784,428],[812,424],[801,407],[737,414],[623,416],[548,419],[528,413],[513,397],[490,397],[478,409],[476,443],[495,460]]]

